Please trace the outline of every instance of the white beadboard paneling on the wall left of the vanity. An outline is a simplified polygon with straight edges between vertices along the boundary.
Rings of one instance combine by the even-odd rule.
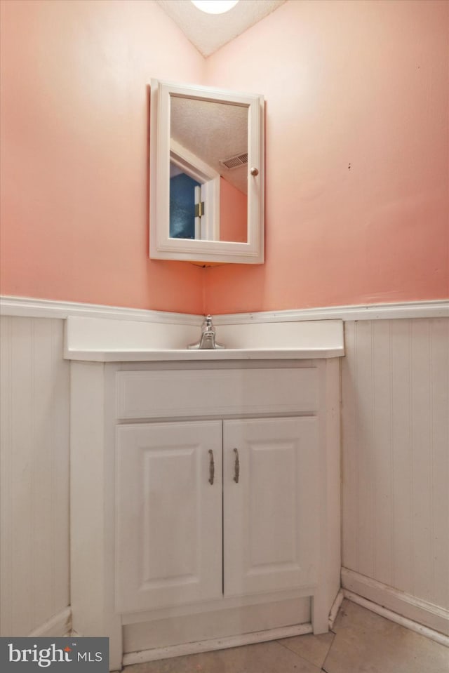
[[[0,633],[69,604],[69,364],[63,321],[2,317]]]

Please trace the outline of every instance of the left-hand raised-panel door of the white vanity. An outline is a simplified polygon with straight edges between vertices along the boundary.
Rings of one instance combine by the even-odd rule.
[[[117,427],[115,536],[116,611],[222,596],[221,421]]]

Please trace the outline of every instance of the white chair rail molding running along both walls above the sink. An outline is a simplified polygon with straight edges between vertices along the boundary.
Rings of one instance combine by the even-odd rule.
[[[32,297],[4,296],[0,298],[0,314],[27,318],[62,318],[81,316],[116,320],[138,320],[156,323],[200,325],[202,316],[170,313],[80,302],[60,302]],[[398,318],[449,317],[449,300],[424,302],[395,302],[356,306],[328,306],[286,311],[260,311],[214,316],[216,325],[235,325],[302,320],[380,320]]]

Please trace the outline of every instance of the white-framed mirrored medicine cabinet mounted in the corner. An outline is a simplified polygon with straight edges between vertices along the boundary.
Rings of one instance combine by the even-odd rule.
[[[152,80],[151,258],[264,261],[263,105]]]

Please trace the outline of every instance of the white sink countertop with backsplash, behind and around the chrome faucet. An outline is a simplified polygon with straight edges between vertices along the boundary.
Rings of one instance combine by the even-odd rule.
[[[328,358],[344,355],[342,320],[309,320],[220,325],[224,349],[187,349],[198,324],[69,317],[64,357],[98,362]]]

